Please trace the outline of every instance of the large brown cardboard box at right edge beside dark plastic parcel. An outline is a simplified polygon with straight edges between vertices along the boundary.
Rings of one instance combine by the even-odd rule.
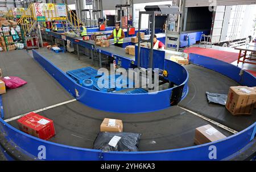
[[[256,90],[247,86],[229,88],[226,108],[232,115],[250,115],[256,102]]]

